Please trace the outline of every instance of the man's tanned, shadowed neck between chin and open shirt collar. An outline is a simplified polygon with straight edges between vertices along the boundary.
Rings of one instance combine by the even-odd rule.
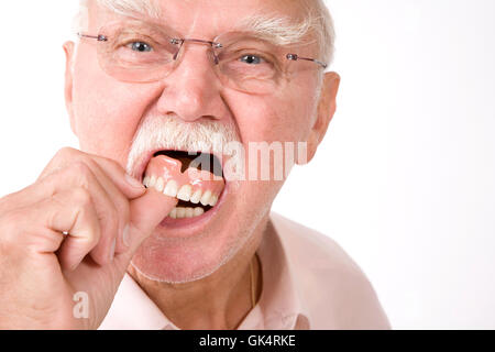
[[[267,221],[266,217],[232,260],[199,280],[157,283],[143,277],[133,266],[129,267],[129,274],[178,328],[235,329],[252,309],[251,264],[256,300],[261,294],[261,265],[255,253]]]

